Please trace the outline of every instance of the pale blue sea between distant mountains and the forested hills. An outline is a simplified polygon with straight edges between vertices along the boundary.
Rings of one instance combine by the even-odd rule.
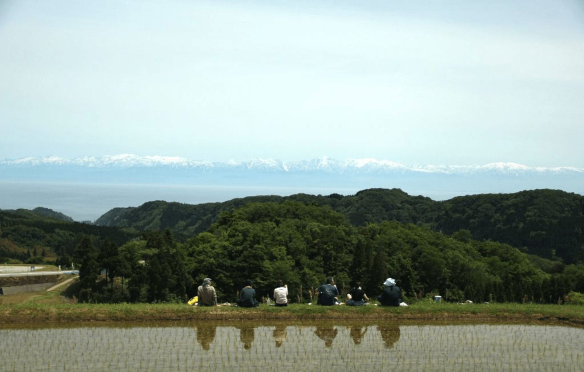
[[[371,187],[387,187],[371,185]],[[396,186],[393,186],[396,187]],[[256,195],[293,194],[353,195],[366,187],[265,187],[168,184],[96,184],[46,181],[0,181],[0,209],[33,209],[37,206],[64,213],[75,221],[95,221],[112,208],[140,206],[148,201],[164,200],[186,204],[224,202]],[[387,187],[391,188],[391,187]],[[410,195],[423,195],[444,200],[481,191],[406,190]]]

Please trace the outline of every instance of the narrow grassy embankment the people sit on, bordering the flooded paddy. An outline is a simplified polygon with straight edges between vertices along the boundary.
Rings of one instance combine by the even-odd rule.
[[[198,307],[183,304],[57,304],[58,292],[39,294],[22,304],[0,305],[0,323],[77,321],[190,321],[215,320],[419,320],[419,321],[540,321],[584,325],[584,306],[536,304],[435,304],[408,307],[318,306],[291,304],[277,308],[262,304]]]

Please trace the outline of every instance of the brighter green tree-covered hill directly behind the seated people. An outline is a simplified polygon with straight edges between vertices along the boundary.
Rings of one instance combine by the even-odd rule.
[[[89,279],[81,280],[79,298],[97,302],[184,301],[206,277],[220,302],[233,302],[247,279],[258,297],[272,295],[282,279],[294,302],[314,302],[315,288],[328,276],[342,295],[359,281],[371,296],[391,276],[408,301],[440,294],[447,301],[556,304],[584,290],[582,265],[558,267],[508,244],[473,240],[468,230],[447,236],[397,221],[354,226],[330,206],[298,201],[222,212],[186,242],[166,230],[119,248],[86,240],[78,252],[78,260],[93,257],[82,264]],[[102,280],[99,268],[108,268]]]

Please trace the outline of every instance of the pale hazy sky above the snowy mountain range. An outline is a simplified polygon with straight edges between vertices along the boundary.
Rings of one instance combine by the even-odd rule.
[[[584,167],[584,2],[395,3],[1,0],[0,160]]]

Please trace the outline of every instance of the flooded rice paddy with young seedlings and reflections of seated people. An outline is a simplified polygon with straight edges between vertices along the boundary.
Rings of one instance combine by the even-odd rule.
[[[0,329],[2,371],[581,371],[555,325],[197,322]]]

